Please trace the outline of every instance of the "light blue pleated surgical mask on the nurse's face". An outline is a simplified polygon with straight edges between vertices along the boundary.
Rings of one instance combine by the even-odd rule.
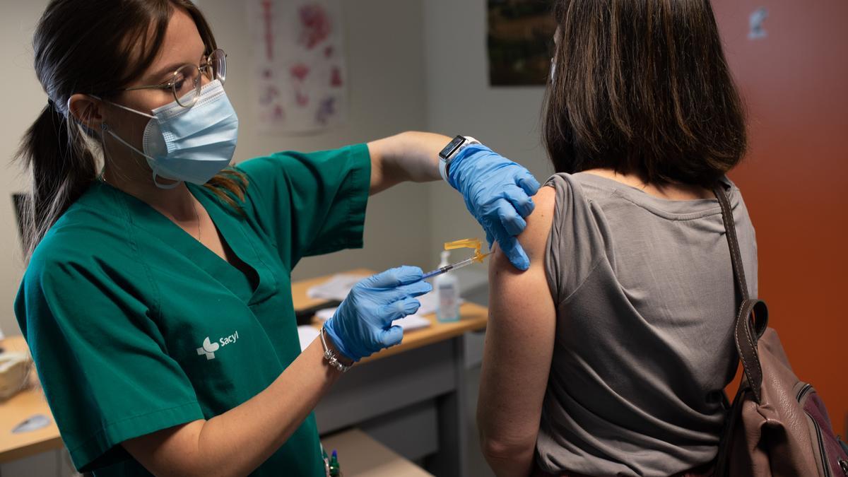
[[[159,188],[175,188],[180,182],[162,184],[156,177],[204,184],[232,161],[238,139],[238,117],[218,80],[201,89],[197,103],[191,108],[183,108],[174,101],[153,109],[153,115],[148,115],[114,105],[150,118],[144,128],[143,151],[118,137],[105,123],[103,131],[147,158],[153,169],[153,182]]]

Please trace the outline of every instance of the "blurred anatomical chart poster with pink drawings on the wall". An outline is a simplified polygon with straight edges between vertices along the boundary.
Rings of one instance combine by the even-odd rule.
[[[340,0],[250,0],[259,132],[321,132],[344,122],[348,87]]]

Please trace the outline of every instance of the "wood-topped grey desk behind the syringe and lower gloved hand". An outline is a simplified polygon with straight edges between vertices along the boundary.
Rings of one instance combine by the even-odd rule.
[[[349,273],[369,275],[369,270]],[[306,289],[327,277],[292,286],[295,308],[315,306]],[[439,477],[464,477],[468,456],[466,332],[483,329],[484,306],[464,303],[458,322],[404,333],[400,345],[362,360],[315,407],[321,435],[359,428],[403,457],[423,461]]]

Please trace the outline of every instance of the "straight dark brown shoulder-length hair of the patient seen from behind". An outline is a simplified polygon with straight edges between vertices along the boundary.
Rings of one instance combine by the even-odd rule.
[[[557,0],[544,143],[557,172],[709,186],[745,154],[745,114],[709,0]]]

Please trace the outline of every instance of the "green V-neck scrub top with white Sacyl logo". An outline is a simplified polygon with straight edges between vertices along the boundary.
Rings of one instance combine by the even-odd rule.
[[[365,144],[236,168],[249,182],[243,214],[206,188],[189,190],[248,274],[104,182],[32,255],[15,314],[78,469],[149,475],[120,442],[212,418],[265,390],[300,354],[292,268],[362,246]],[[324,475],[314,415],[253,475],[283,474]]]

